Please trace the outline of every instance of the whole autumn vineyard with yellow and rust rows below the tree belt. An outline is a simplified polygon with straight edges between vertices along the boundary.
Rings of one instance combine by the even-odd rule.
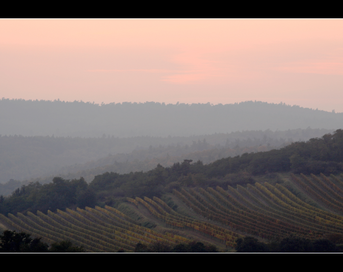
[[[128,197],[128,206],[161,226],[155,230],[110,206],[0,214],[0,222],[48,243],[72,241],[88,252],[133,252],[139,242],[173,246],[194,237],[224,249],[235,247],[237,238],[244,236],[265,241],[291,235],[317,239],[343,235],[342,179],[342,174],[290,174],[282,182],[228,186],[227,190],[185,187],[173,190],[171,197],[179,205],[175,210],[158,197]]]

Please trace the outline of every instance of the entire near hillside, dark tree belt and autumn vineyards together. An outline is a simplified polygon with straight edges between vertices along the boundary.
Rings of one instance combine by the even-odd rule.
[[[106,172],[90,184],[55,177],[1,196],[0,211],[7,215],[1,224],[51,242],[67,238],[93,252],[130,252],[133,241],[171,246],[192,240],[230,251],[247,236],[317,244],[325,238],[334,245],[343,241],[342,162],[338,129],[208,165],[184,160],[147,172]]]

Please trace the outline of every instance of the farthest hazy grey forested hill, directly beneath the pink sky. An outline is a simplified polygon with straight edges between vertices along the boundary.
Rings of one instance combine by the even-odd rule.
[[[343,113],[260,101],[164,104],[0,100],[0,134],[114,137],[191,136],[307,127],[338,129]]]

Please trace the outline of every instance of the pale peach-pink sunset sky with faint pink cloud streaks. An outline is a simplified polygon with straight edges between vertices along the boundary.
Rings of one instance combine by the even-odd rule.
[[[341,19],[0,19],[0,98],[343,112]]]

